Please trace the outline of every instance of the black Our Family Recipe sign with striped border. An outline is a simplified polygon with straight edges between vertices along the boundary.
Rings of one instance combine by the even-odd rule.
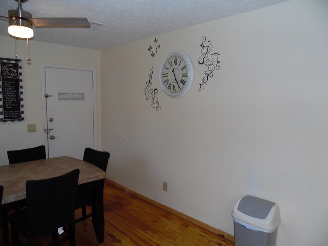
[[[0,121],[24,120],[22,60],[0,58]]]

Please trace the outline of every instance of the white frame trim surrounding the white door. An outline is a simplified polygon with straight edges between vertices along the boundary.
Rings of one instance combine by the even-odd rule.
[[[42,80],[42,106],[43,106],[43,129],[47,128],[47,107],[46,107],[46,81],[45,81],[45,69],[46,68],[57,68],[57,69],[70,69],[70,70],[83,70],[83,71],[91,71],[92,72],[92,84],[93,84],[93,141],[94,148],[97,149],[98,141],[97,141],[97,88],[96,88],[96,69],[95,68],[87,68],[87,67],[76,67],[76,66],[68,66],[68,65],[59,65],[59,64],[48,64],[41,63],[41,80]],[[45,148],[48,150],[48,138],[47,134],[43,130],[43,140]],[[48,151],[46,151],[46,155],[48,156]]]

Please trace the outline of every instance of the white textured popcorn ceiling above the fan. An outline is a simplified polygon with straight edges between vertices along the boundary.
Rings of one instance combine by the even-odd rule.
[[[33,17],[87,17],[94,29],[34,28],[34,40],[105,49],[287,0],[29,0],[23,10]],[[16,9],[0,0],[0,15]],[[8,35],[0,20],[0,35]]]

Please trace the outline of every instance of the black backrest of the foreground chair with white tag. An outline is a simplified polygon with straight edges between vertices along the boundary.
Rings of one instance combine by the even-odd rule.
[[[33,238],[74,223],[80,170],[43,180],[26,181],[27,234]]]

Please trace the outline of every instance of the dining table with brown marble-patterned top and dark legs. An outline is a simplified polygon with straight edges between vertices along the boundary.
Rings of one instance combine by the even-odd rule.
[[[92,224],[97,241],[102,243],[104,241],[105,225],[103,213],[103,187],[106,173],[89,162],[69,156],[53,157],[0,166],[0,185],[4,186],[1,205],[2,219],[7,221],[6,217],[9,211],[25,206],[25,182],[27,180],[40,180],[56,177],[77,168],[80,170],[77,188],[77,201],[84,201],[83,195],[91,192]],[[79,205],[81,206],[87,204]],[[2,226],[3,236],[7,237],[7,225]],[[7,235],[4,235],[4,231],[6,230]],[[5,244],[7,243],[5,242]]]

